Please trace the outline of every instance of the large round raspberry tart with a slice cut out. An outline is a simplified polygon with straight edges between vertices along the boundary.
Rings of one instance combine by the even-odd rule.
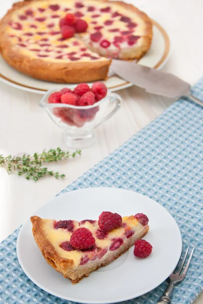
[[[25,0],[0,22],[0,52],[7,63],[55,83],[106,79],[111,58],[140,59],[151,40],[148,16],[119,1]]]

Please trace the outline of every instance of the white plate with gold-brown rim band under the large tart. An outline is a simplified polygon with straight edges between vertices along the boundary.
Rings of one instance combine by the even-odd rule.
[[[153,39],[151,48],[147,54],[141,60],[139,60],[138,63],[159,69],[165,64],[168,58],[170,42],[165,30],[155,21],[152,20],[152,22]],[[61,86],[65,86],[71,89],[77,86],[77,84],[56,84],[28,77],[27,75],[24,75],[13,69],[1,56],[0,71],[0,81],[3,81],[12,87],[28,92],[44,94],[50,89],[60,89]],[[104,81],[104,83],[111,91],[117,91],[132,86],[132,84],[117,76],[109,77],[107,81]]]

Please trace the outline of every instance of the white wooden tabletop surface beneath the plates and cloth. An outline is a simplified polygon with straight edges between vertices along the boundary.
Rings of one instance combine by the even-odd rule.
[[[13,2],[1,1],[0,16]],[[131,3],[160,23],[170,36],[171,57],[163,70],[173,72],[190,84],[195,83],[203,73],[203,2],[131,0]],[[36,209],[149,124],[173,102],[149,95],[137,87],[118,93],[123,98],[122,107],[110,121],[97,129],[96,143],[84,149],[81,157],[50,166],[65,173],[64,180],[45,178],[36,183],[16,175],[9,176],[0,169],[0,242]],[[0,154],[34,153],[58,146],[65,148],[61,130],[38,105],[41,95],[0,83],[0,96]],[[203,293],[194,303],[203,303]]]

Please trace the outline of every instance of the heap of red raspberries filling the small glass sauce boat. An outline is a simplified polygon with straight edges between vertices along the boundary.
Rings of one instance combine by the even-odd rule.
[[[93,106],[107,95],[107,87],[102,82],[95,82],[91,89],[86,83],[79,84],[73,91],[64,88],[59,92],[52,93],[48,97],[49,103],[70,104],[74,106],[92,106],[87,109],[54,107],[53,114],[70,126],[81,128],[86,122],[94,119],[99,105]]]

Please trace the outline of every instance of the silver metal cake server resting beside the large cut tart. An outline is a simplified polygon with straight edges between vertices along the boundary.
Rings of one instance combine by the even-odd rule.
[[[145,89],[148,93],[176,99],[186,96],[203,106],[203,102],[191,94],[190,84],[171,73],[117,59],[112,60],[111,70],[131,84]]]

